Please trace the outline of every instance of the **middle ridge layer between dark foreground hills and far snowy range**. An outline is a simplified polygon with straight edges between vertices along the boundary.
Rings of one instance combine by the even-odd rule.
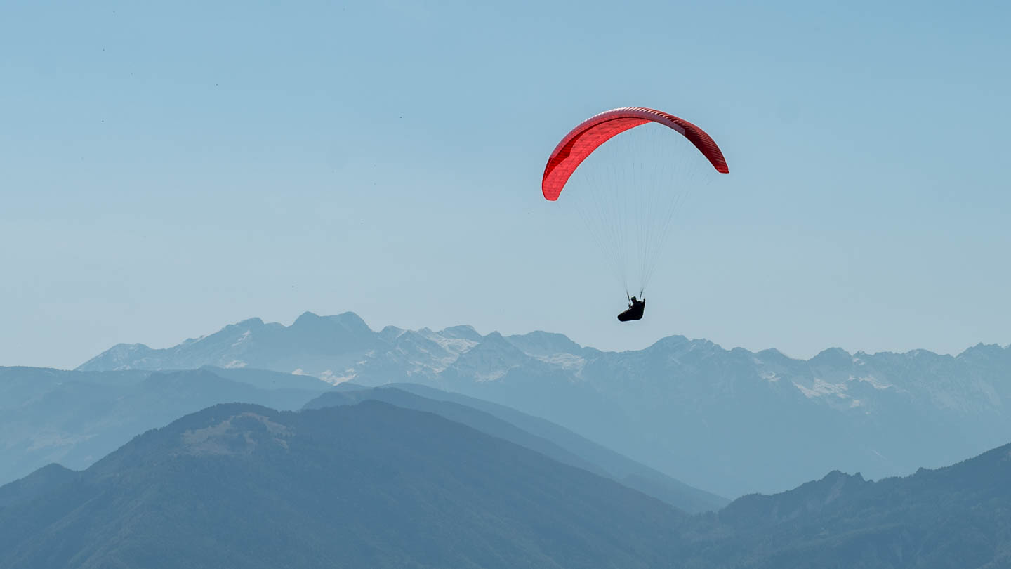
[[[133,436],[217,403],[252,402],[284,410],[375,400],[462,422],[687,512],[716,510],[728,502],[550,421],[420,385],[332,386],[310,376],[211,367],[178,372],[0,368],[0,484],[53,462],[88,468]]]

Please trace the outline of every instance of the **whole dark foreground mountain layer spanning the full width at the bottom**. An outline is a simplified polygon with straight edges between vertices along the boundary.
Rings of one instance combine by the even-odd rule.
[[[0,487],[0,568],[997,569],[1009,478],[1003,445],[688,515],[436,413],[227,404]]]

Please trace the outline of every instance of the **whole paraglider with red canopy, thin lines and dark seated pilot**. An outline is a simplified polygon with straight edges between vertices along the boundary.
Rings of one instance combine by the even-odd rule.
[[[624,147],[612,143],[595,155],[600,157],[596,163],[589,165],[591,155],[605,143],[642,126],[650,126],[645,131],[655,132],[655,139],[644,146],[629,147],[628,156],[621,155]],[[636,130],[640,131],[644,129]],[[681,137],[671,137],[670,131]],[[619,140],[629,138],[635,137],[625,135]],[[671,139],[686,141],[698,152]],[[609,154],[612,149],[614,152]],[[601,156],[602,153],[607,156]],[[650,153],[659,155],[653,157]],[[728,173],[727,161],[712,137],[687,120],[652,108],[615,108],[583,120],[558,143],[544,168],[541,180],[544,198],[557,200],[584,162],[591,171],[578,183],[583,187],[573,190],[584,196],[577,210],[598,245],[611,257],[616,274],[625,284],[626,296],[628,265],[630,257],[635,257],[632,260],[637,261],[635,264],[639,267],[638,296],[642,299],[674,213],[687,189],[698,185],[690,174],[701,174],[706,169],[701,164],[712,166],[719,173]],[[677,169],[680,162],[686,162],[687,167]],[[586,170],[587,166],[581,170]],[[675,169],[677,171],[672,172]],[[618,320],[642,319],[645,306],[644,299],[630,297],[628,310],[619,315]]]

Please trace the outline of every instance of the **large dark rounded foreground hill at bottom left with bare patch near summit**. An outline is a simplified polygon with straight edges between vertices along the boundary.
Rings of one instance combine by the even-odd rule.
[[[663,567],[685,514],[433,413],[218,405],[0,488],[0,567]]]

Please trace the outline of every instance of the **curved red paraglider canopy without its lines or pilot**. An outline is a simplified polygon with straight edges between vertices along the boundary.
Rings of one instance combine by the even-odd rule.
[[[565,135],[544,168],[544,179],[541,181],[544,197],[552,201],[558,199],[569,176],[598,147],[612,137],[646,123],[657,123],[684,135],[709,159],[716,171],[730,172],[720,147],[699,127],[660,110],[625,106],[590,116]]]

